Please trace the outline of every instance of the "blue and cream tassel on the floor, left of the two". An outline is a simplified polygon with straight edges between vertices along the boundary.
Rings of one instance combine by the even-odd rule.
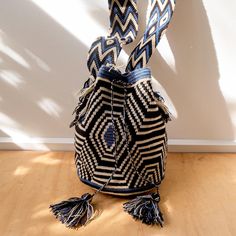
[[[49,208],[66,227],[83,226],[93,216],[93,206],[90,204],[93,195],[85,193],[81,198],[73,197],[66,201],[50,205]]]

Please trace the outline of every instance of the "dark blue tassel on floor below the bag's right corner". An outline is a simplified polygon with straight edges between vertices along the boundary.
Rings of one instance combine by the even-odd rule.
[[[125,212],[128,212],[136,220],[142,223],[153,225],[160,224],[163,227],[163,214],[161,213],[158,202],[160,195],[152,193],[145,196],[138,196],[135,199],[123,204]]]

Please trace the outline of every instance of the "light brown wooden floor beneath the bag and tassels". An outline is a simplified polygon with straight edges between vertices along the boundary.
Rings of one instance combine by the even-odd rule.
[[[169,153],[160,187],[164,227],[146,226],[122,210],[127,199],[99,194],[100,215],[68,229],[48,206],[91,189],[80,183],[72,152],[0,152],[0,235],[236,235],[236,154]]]

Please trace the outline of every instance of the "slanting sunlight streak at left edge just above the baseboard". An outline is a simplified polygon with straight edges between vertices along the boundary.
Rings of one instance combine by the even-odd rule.
[[[38,143],[37,140],[32,140],[27,134],[20,130],[19,125],[12,118],[0,112],[0,129],[9,135],[17,146],[22,149],[45,150],[49,148],[43,143]]]

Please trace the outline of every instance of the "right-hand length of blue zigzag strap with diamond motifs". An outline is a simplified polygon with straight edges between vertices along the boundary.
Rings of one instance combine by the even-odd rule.
[[[145,67],[165,33],[175,8],[175,0],[149,0],[149,20],[143,37],[130,54],[126,71]]]

